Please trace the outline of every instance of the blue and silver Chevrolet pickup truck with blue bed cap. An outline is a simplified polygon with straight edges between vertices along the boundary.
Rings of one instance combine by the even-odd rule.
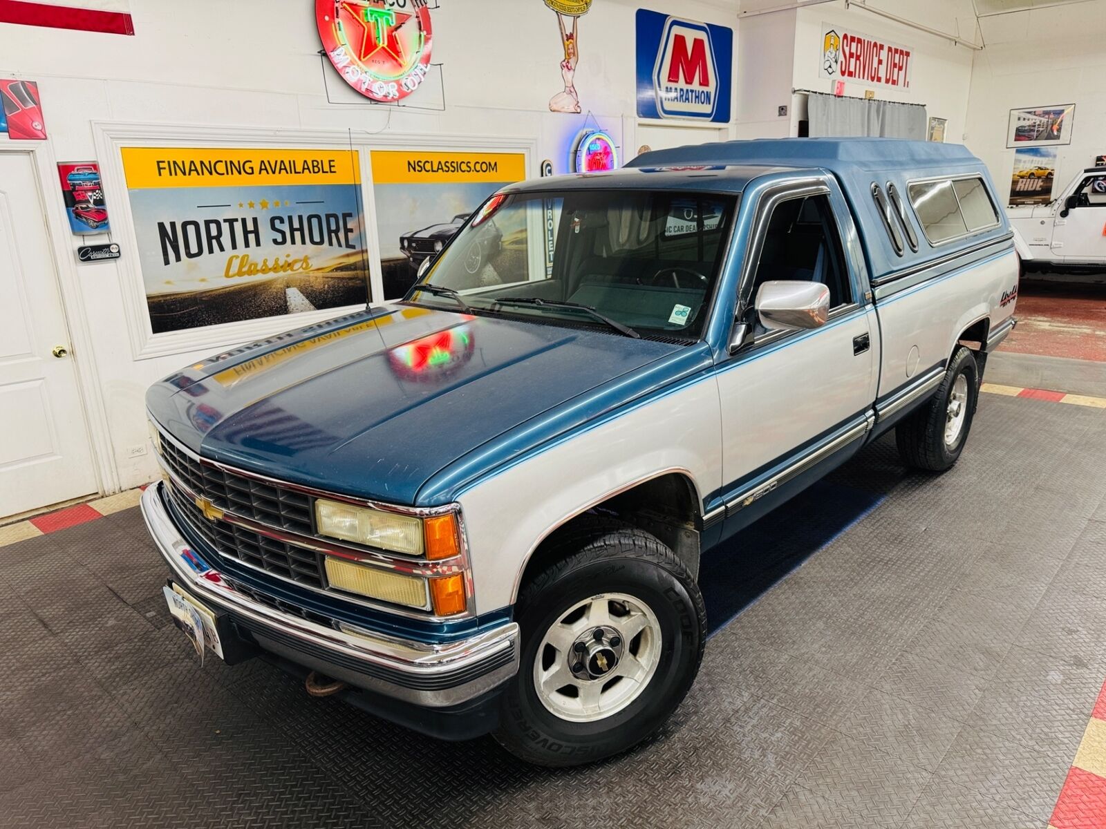
[[[963,147],[889,139],[505,187],[404,301],[149,390],[170,610],[425,733],[624,751],[695,680],[710,547],[889,429],[957,461],[1014,325],[998,204]]]

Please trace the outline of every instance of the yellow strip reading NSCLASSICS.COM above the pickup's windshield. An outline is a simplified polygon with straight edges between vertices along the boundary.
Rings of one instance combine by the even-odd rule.
[[[467,181],[521,181],[521,153],[431,153],[373,150],[373,183],[440,185]]]

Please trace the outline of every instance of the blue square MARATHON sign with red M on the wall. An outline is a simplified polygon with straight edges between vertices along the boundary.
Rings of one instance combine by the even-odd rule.
[[[637,10],[637,114],[727,123],[733,30]]]

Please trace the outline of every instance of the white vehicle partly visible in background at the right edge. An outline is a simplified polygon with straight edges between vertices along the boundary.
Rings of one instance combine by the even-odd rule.
[[[1106,167],[1088,167],[1047,204],[1008,207],[1025,270],[1106,271]]]

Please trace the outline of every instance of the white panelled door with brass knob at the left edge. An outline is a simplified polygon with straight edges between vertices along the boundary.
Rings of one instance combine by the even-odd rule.
[[[43,210],[31,154],[0,151],[0,518],[96,490]]]

